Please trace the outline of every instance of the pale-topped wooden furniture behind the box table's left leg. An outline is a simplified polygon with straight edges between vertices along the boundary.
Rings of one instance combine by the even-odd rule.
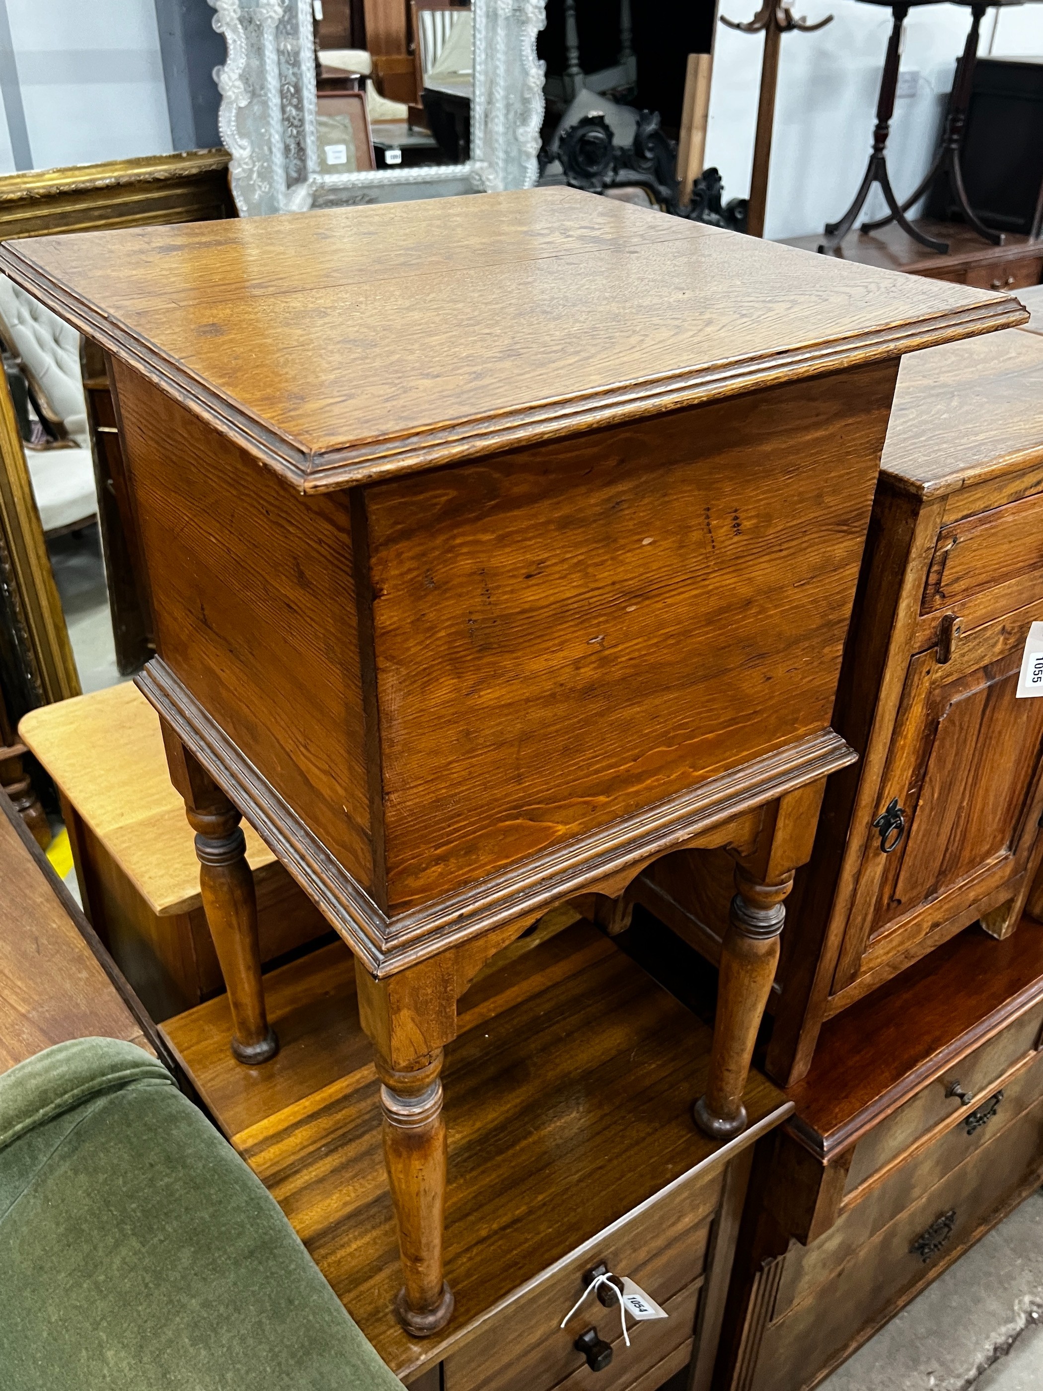
[[[31,711],[21,737],[61,798],[81,900],[153,1020],[223,988],[185,804],[156,711],[132,686]],[[330,929],[264,842],[245,828],[263,963]]]

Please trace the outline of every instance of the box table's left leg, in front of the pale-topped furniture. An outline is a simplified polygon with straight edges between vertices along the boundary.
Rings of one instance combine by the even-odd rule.
[[[196,833],[203,911],[232,1013],[232,1053],[250,1067],[267,1063],[280,1045],[264,1008],[257,899],[246,864],[242,817],[165,725],[163,741],[171,782],[185,798],[185,814]]]

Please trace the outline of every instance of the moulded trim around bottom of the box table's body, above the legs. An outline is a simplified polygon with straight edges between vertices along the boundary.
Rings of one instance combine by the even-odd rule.
[[[153,658],[135,680],[377,978],[519,918],[535,918],[588,885],[666,854],[691,836],[825,778],[857,757],[827,727],[464,892],[388,918],[160,658]]]

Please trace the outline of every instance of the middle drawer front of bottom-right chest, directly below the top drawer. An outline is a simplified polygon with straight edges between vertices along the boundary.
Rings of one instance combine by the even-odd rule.
[[[961,1110],[955,1125],[869,1188],[818,1241],[807,1248],[794,1246],[779,1281],[776,1317],[823,1289],[852,1256],[922,1202],[946,1175],[997,1141],[1005,1146],[1007,1132],[1017,1135],[1019,1118],[1039,1104],[1043,1104],[1043,1054],[1004,1085],[1001,1100],[997,1102],[996,1091],[983,1089],[973,1104]],[[969,1134],[968,1123],[972,1123]],[[1043,1163],[1043,1155],[1039,1157]]]

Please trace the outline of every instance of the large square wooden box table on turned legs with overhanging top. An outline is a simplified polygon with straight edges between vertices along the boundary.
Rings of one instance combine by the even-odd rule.
[[[6,246],[111,357],[234,1049],[245,814],[355,953],[413,1334],[442,1271],[456,1000],[659,855],[737,893],[695,1114],[726,1139],[812,847],[903,353],[1017,300],[576,191]],[[616,908],[606,906],[613,900]]]

